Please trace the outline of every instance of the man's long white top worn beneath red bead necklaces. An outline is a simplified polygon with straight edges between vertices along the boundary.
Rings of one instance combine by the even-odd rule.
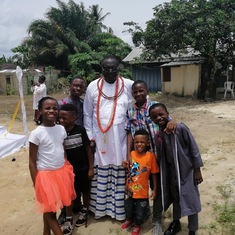
[[[126,111],[132,102],[131,86],[132,80],[124,79],[124,91],[118,97],[116,114],[112,127],[106,134],[103,134],[97,122],[96,106],[98,100],[97,80],[94,80],[87,87],[84,99],[84,127],[86,128],[88,137],[96,141],[96,152],[94,164],[98,166],[106,166],[109,164],[121,165],[126,159],[127,133],[125,131]],[[100,84],[99,84],[100,85]],[[121,88],[119,82],[119,89]],[[104,81],[102,91],[107,96],[115,94],[116,82],[109,84]],[[100,121],[102,127],[105,128],[111,119],[113,110],[113,100],[105,99],[101,96],[100,99]]]

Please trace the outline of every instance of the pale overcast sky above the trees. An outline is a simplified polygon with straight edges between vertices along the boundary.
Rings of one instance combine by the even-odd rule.
[[[64,0],[64,2],[68,2]],[[170,0],[74,0],[83,2],[86,9],[98,4],[103,15],[110,12],[104,24],[111,27],[114,34],[131,44],[123,22],[134,21],[145,28],[145,22],[153,18],[153,7]],[[19,46],[27,36],[29,24],[36,19],[43,19],[51,7],[58,7],[56,0],[0,0],[0,57],[12,55],[11,49]]]

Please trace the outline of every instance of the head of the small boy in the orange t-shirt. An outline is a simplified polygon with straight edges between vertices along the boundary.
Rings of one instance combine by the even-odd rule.
[[[134,148],[139,154],[144,154],[148,151],[149,147],[149,133],[140,129],[134,134]]]

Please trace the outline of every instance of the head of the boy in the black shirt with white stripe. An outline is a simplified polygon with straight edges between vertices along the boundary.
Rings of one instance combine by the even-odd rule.
[[[64,104],[61,106],[59,112],[59,121],[60,124],[65,127],[65,129],[74,126],[74,122],[76,121],[77,116],[78,110],[74,104]]]

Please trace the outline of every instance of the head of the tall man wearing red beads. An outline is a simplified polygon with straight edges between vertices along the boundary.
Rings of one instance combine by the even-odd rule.
[[[108,83],[114,83],[118,76],[118,61],[114,58],[107,58],[102,63],[102,73]]]

